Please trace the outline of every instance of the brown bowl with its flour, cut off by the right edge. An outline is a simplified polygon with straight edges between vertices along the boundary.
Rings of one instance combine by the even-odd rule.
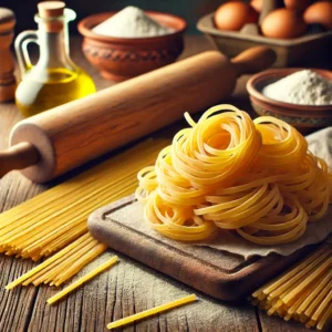
[[[301,132],[332,125],[332,72],[318,69],[276,69],[247,83],[259,115],[281,118]]]

